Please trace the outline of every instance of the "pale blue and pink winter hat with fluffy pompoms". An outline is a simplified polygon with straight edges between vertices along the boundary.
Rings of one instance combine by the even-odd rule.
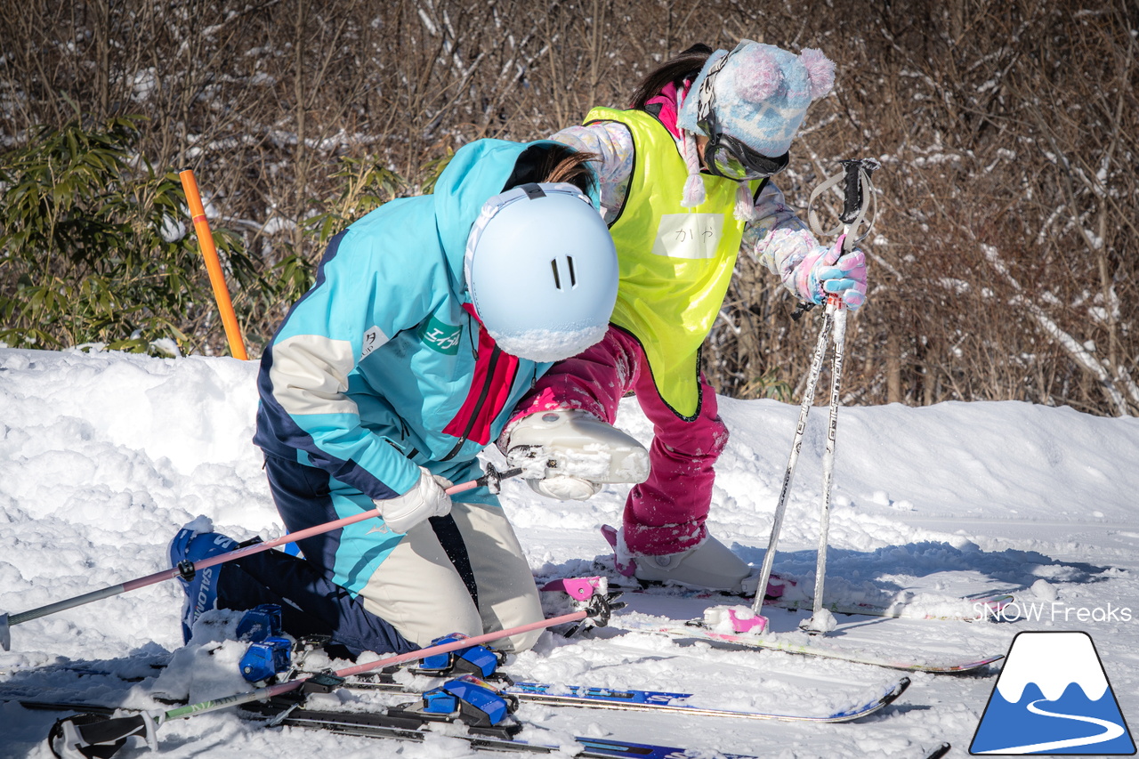
[[[728,59],[720,64],[720,60]],[[826,97],[835,83],[835,64],[820,50],[795,55],[773,44],[743,40],[736,48],[716,50],[700,70],[677,124],[711,137],[697,124],[697,101],[704,80],[711,83],[720,129],[764,156],[787,153],[812,100]]]

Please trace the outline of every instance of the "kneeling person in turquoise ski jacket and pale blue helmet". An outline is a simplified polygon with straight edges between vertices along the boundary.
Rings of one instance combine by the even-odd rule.
[[[206,609],[279,603],[285,631],[351,655],[541,619],[533,576],[494,495],[449,497],[554,361],[597,343],[616,300],[591,155],[478,140],[434,194],[392,201],[334,237],[316,285],[261,360],[254,442],[289,531],[364,520],[199,571],[183,632]],[[183,529],[171,558],[233,542]],[[500,642],[531,647],[539,632]]]

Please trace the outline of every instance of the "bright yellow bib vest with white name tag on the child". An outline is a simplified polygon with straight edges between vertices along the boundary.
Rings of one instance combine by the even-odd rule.
[[[699,350],[715,321],[744,235],[737,182],[702,173],[705,201],[680,205],[688,166],[669,130],[644,111],[593,108],[585,123],[615,121],[633,137],[629,191],[609,232],[621,285],[611,321],[645,349],[653,382],[678,416],[699,411]],[[752,194],[764,180],[749,183]]]

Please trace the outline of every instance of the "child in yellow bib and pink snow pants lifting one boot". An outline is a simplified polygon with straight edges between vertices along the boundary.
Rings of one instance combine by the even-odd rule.
[[[754,593],[747,564],[705,527],[728,431],[699,348],[740,250],[803,301],[838,293],[852,310],[862,304],[862,252],[820,246],[770,180],[786,168],[808,105],[833,82],[834,64],[818,50],[696,46],[649,74],[630,109],[593,108],[584,125],[552,137],[600,155],[621,287],[605,340],[547,373],[499,444],[511,462],[558,462],[559,476],[535,480],[535,490],[588,498],[599,488],[574,471],[573,451],[590,448],[636,392],[654,439],[652,474],[629,493],[616,536],[626,576]]]

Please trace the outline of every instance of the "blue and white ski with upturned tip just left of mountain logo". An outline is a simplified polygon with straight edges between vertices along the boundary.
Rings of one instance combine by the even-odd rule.
[[[669,693],[664,691],[640,691],[636,688],[595,688],[581,685],[555,686],[544,683],[513,683],[502,687],[519,701],[540,703],[549,707],[577,707],[588,709],[607,709],[618,711],[647,711],[657,713],[693,715],[697,717],[731,717],[736,719],[777,720],[790,723],[850,723],[872,715],[894,702],[910,680],[903,677],[891,683],[874,697],[839,709],[828,715],[787,715],[769,713],[743,709],[708,709],[682,702],[691,697],[689,693]],[[344,687],[351,691],[378,691],[383,693],[408,693],[403,685],[392,678],[392,672],[379,672],[350,679]]]

